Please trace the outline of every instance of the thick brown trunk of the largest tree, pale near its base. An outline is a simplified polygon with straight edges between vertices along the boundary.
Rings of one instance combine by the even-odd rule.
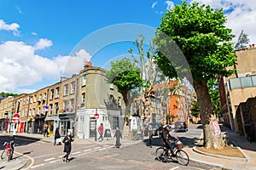
[[[195,93],[199,109],[201,111],[201,122],[204,133],[204,146],[206,148],[222,149],[223,142],[221,131],[216,116],[212,111],[211,99],[207,88],[207,82],[194,81]]]

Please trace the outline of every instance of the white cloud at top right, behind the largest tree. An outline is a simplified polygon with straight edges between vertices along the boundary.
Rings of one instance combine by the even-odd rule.
[[[192,0],[210,5],[212,8],[224,8],[227,13],[226,26],[231,28],[233,34],[236,35],[234,42],[237,41],[241,30],[248,35],[250,43],[256,43],[256,3],[251,0],[223,0],[223,1],[208,1],[208,0]]]

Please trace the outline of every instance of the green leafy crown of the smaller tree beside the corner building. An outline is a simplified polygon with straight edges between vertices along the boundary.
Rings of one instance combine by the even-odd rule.
[[[113,83],[125,98],[129,91],[143,85],[139,68],[127,58],[112,61],[111,69],[106,73],[106,77],[107,81]]]

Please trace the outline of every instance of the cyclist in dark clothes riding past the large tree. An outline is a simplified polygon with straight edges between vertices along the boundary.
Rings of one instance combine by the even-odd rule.
[[[172,156],[174,155],[174,153],[173,153],[173,140],[176,140],[177,139],[177,137],[173,137],[170,133],[169,133],[169,131],[170,131],[170,127],[169,127],[169,125],[164,125],[163,126],[163,131],[162,131],[162,135],[161,135],[161,138],[162,138],[162,140],[163,140],[163,142],[164,142],[164,144],[165,144],[165,147],[166,147],[166,154],[168,154],[168,150],[170,150],[171,151],[171,153],[172,153]]]

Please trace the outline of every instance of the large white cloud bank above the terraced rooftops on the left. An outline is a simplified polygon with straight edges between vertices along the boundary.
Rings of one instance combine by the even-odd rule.
[[[84,49],[73,56],[60,55],[53,59],[35,52],[33,46],[24,42],[0,43],[0,92],[31,92],[32,89],[26,87],[45,79],[59,80],[63,72],[78,73],[83,69],[84,62],[91,58]]]

